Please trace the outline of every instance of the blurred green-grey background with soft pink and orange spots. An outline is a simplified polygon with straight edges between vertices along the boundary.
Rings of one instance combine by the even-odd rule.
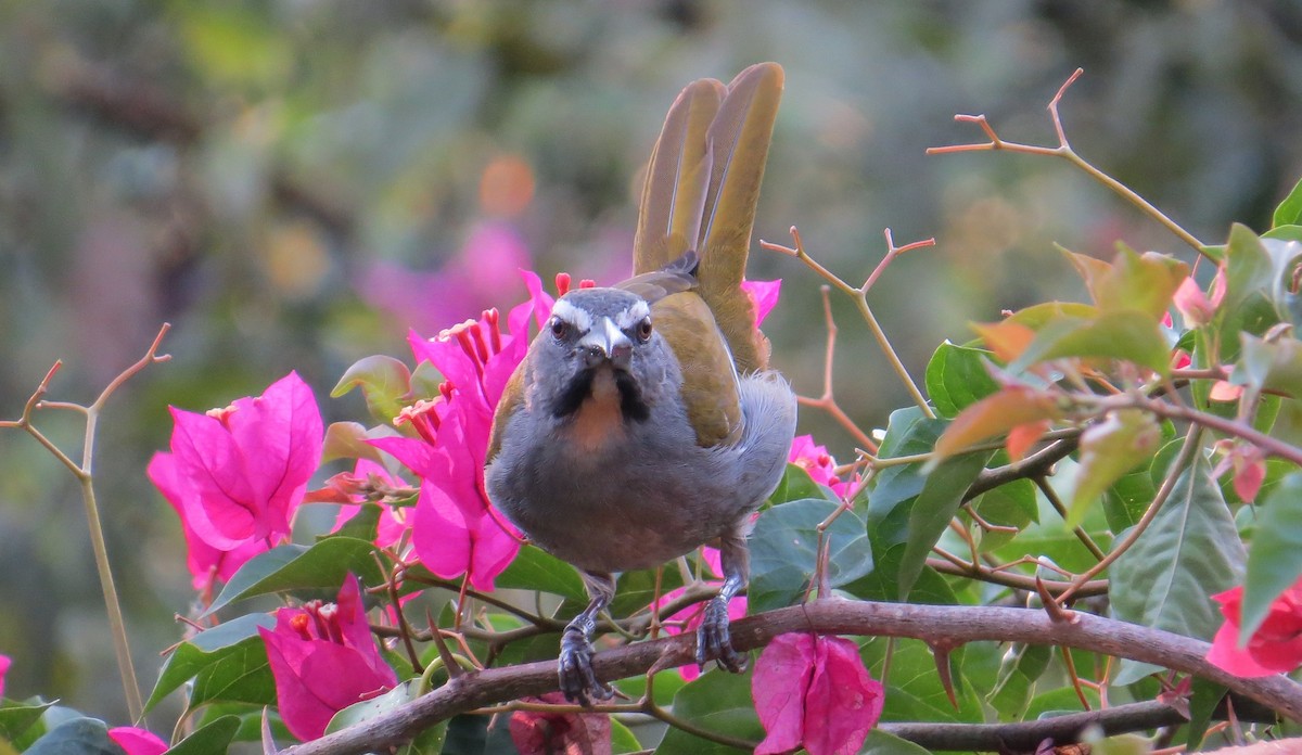
[[[516,267],[613,282],[673,96],[759,60],[786,94],[756,238],[798,225],[857,284],[883,228],[935,236],[870,297],[919,379],[969,320],[1083,297],[1055,242],[1191,259],[1062,161],[927,158],[980,139],[953,113],[1052,143],[1044,105],[1083,66],[1073,144],[1208,242],[1230,220],[1264,229],[1302,174],[1297,3],[0,0],[0,417],[56,358],[52,397],[90,401],[174,325],[172,362],[113,397],[98,457],[146,687],[193,599],[145,478],[168,404],[224,406],[298,370],[328,420],[365,419],[327,398],[344,368],[521,301]],[[784,279],[775,362],[818,394],[820,281],[758,247],[750,276]],[[836,305],[838,398],[880,427],[907,400]],[[69,450],[74,420],[39,415]],[[852,458],[825,418],[803,427]],[[77,486],[17,431],[0,432],[0,574],[8,695],[125,722]]]

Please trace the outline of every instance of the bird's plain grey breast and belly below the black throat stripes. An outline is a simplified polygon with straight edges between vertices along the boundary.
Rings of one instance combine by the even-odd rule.
[[[581,569],[664,564],[728,531],[753,504],[733,484],[736,460],[698,446],[682,413],[624,422],[596,444],[592,432],[522,410],[487,470],[503,513]]]

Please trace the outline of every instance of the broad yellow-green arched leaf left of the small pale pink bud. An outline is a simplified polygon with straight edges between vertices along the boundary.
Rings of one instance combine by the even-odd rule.
[[[1159,375],[1170,368],[1170,348],[1157,320],[1144,312],[1121,310],[1088,320],[1062,318],[1044,325],[1009,370],[1022,372],[1040,362],[1068,357],[1118,359]]]

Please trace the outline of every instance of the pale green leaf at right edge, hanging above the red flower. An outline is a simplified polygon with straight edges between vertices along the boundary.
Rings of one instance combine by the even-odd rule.
[[[1302,575],[1302,471],[1285,476],[1258,509],[1247,553],[1240,643],[1246,644],[1285,588]]]

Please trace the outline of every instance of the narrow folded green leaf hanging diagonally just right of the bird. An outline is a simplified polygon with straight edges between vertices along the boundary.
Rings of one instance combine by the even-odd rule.
[[[927,564],[927,556],[958,513],[967,488],[995,456],[992,450],[966,453],[941,462],[927,475],[909,510],[909,532],[900,562],[900,595],[906,597]]]

